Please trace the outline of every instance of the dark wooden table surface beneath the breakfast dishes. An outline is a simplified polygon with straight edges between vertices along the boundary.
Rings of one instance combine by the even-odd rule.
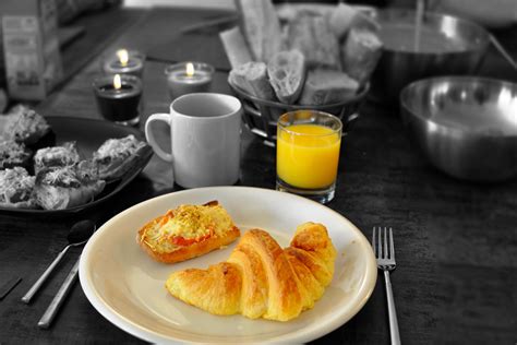
[[[122,10],[109,15],[125,17],[119,11]],[[130,15],[135,24],[124,24],[123,33],[119,29],[106,51],[118,47],[147,51],[157,44],[166,44],[184,25],[213,17],[214,12],[155,9]],[[82,21],[95,26],[92,17]],[[65,62],[81,56],[81,51],[91,52],[100,39],[101,31],[86,26],[85,36],[63,51]],[[117,29],[117,25],[112,27]],[[517,31],[514,27],[512,32],[503,35],[508,43],[515,43]],[[512,50],[515,56],[515,44]],[[501,58],[493,52],[489,58],[484,74],[516,81],[515,73]],[[153,112],[167,111],[164,67],[163,62],[146,63],[142,123]],[[98,69],[99,60],[92,60],[39,104],[38,110],[45,116],[100,118],[91,88]],[[229,93],[225,73],[216,73],[213,91]],[[167,129],[158,132],[165,143]],[[240,183],[275,187],[275,150],[264,146],[245,130]],[[65,246],[68,229],[80,217],[94,218],[100,225],[128,206],[178,189],[172,185],[170,166],[154,157],[141,176],[100,210],[71,218],[0,215],[0,284],[23,277],[0,301],[0,343],[141,343],[104,319],[79,284],[51,329],[36,326],[75,262],[77,250],[65,257],[31,305],[24,305],[20,298]],[[476,185],[437,171],[409,141],[397,110],[366,103],[356,127],[342,141],[336,198],[328,206],[366,236],[373,226],[394,228],[398,269],[392,283],[404,343],[517,342],[516,179]],[[389,343],[385,299],[384,282],[380,278],[364,308],[315,343]]]

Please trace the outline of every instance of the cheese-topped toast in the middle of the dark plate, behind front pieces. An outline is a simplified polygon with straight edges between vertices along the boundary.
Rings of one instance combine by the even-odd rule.
[[[67,142],[60,146],[39,148],[34,155],[34,170],[37,174],[44,168],[73,165],[80,159],[75,142]]]

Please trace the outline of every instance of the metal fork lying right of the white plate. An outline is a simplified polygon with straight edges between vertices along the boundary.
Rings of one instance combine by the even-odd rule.
[[[384,271],[384,279],[386,283],[386,297],[388,304],[388,316],[389,316],[389,334],[392,335],[392,344],[400,344],[400,334],[398,333],[398,321],[397,311],[395,310],[395,300],[393,298],[392,282],[389,281],[389,271],[397,267],[395,262],[395,246],[393,243],[393,231],[389,228],[389,249],[388,239],[386,234],[386,227],[384,227],[384,240],[382,228],[378,227],[378,231],[375,234],[375,227],[373,227],[372,234],[372,247],[375,258],[377,259],[378,270]],[[376,235],[376,236],[375,236]],[[384,250],[383,250],[384,243]]]

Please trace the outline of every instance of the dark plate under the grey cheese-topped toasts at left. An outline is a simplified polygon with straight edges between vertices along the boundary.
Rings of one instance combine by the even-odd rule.
[[[136,139],[145,141],[145,136],[140,130],[113,122],[71,117],[46,117],[46,119],[52,128],[52,136],[55,135],[56,145],[68,141],[75,141],[77,143],[81,158],[92,157],[92,154],[108,139],[118,139],[133,134]],[[133,166],[132,169],[125,172],[122,178],[106,183],[104,191],[92,202],[84,205],[56,211],[0,207],[0,214],[20,216],[63,216],[73,215],[93,209],[109,200],[121,191],[122,188],[128,186],[128,183],[145,168],[152,156],[153,150],[149,146],[148,150],[144,151],[142,159],[139,159],[137,164]]]

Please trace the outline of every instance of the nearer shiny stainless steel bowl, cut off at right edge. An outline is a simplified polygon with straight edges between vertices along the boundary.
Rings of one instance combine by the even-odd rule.
[[[438,169],[473,181],[517,174],[517,84],[426,79],[402,90],[400,111],[411,139]]]

